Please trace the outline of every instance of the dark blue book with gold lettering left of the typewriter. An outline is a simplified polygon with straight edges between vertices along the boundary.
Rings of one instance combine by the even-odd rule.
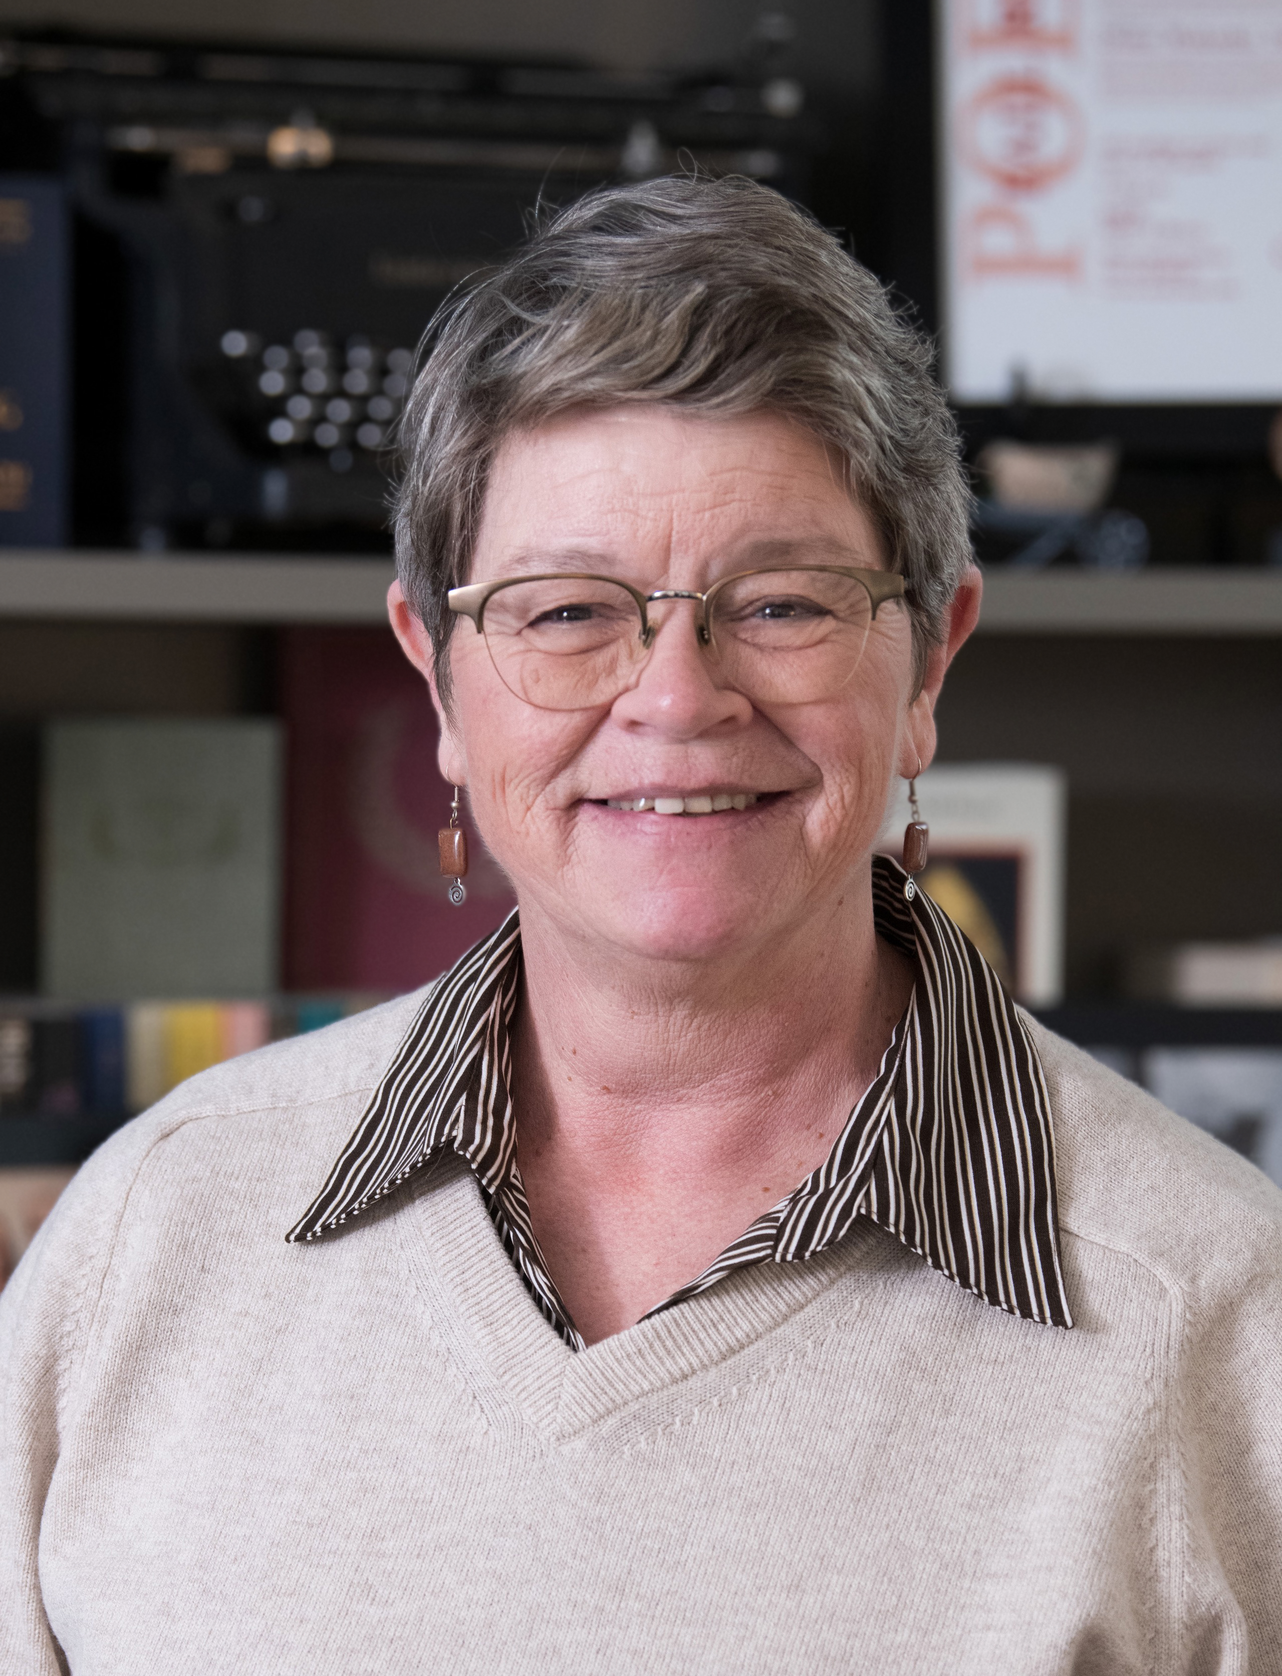
[[[69,280],[62,184],[0,174],[0,546],[67,540]]]

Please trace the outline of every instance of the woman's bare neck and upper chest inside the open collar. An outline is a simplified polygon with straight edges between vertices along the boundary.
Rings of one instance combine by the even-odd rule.
[[[912,992],[871,893],[786,947],[709,962],[566,947],[523,913],[518,1165],[543,1255],[592,1342],[692,1280],[816,1168]]]

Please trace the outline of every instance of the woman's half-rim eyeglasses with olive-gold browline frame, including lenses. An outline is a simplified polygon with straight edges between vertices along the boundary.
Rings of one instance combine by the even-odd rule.
[[[633,687],[655,642],[649,607],[694,600],[695,635],[717,677],[761,704],[811,704],[850,680],[885,600],[887,570],[801,565],[722,577],[706,593],[642,593],[617,577],[555,573],[449,590],[484,635],[504,687],[541,711],[598,709]]]

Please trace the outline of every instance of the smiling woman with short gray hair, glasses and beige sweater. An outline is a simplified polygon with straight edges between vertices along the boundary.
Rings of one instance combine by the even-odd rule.
[[[520,917],[65,1195],[7,1669],[1282,1668],[1282,1200],[871,855],[979,610],[927,360],[742,181],[452,305],[390,613]]]

